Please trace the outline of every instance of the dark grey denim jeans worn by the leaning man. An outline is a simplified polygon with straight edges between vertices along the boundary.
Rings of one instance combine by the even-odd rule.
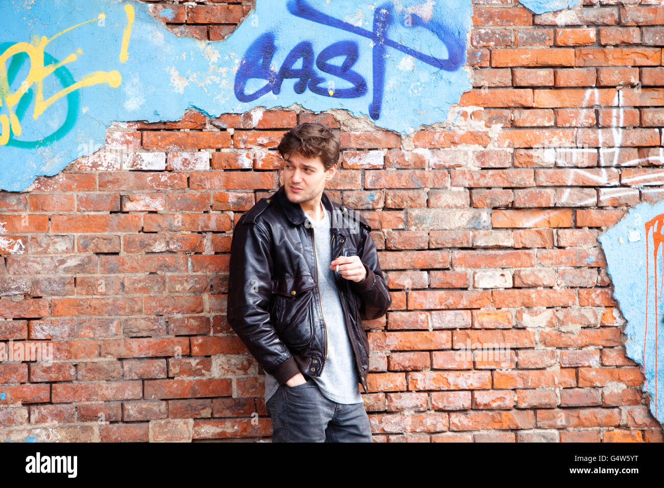
[[[373,442],[365,405],[333,402],[311,379],[282,384],[266,407],[272,442]]]

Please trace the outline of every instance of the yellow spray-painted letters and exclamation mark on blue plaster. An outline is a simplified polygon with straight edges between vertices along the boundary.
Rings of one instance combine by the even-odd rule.
[[[125,5],[125,12],[127,13],[127,25],[125,26],[124,34],[122,37],[122,52],[120,54],[120,60],[122,62],[125,62],[129,57],[127,54],[127,46],[129,45],[131,25],[133,24],[134,18],[133,7],[131,5]],[[64,60],[58,63],[44,66],[44,48],[48,45],[49,42],[53,41],[53,39],[56,39],[56,37],[59,37],[60,35],[67,33],[72,29],[76,29],[76,27],[80,27],[91,22],[102,21],[105,18],[106,15],[104,13],[100,13],[100,15],[94,19],[76,24],[72,27],[69,27],[68,29],[64,29],[64,31],[57,33],[50,39],[46,37],[42,37],[41,39],[35,37],[32,43],[17,42],[16,44],[13,44],[13,46],[7,48],[5,52],[3,52],[3,54],[0,56],[0,107],[3,106],[3,102],[7,104],[8,114],[0,115],[0,145],[6,145],[9,142],[10,128],[15,135],[21,135],[21,123],[19,123],[19,118],[16,116],[13,109],[19,103],[21,97],[23,97],[23,95],[28,90],[30,90],[33,85],[36,86],[35,110],[33,112],[33,119],[35,120],[37,120],[39,116],[44,113],[44,110],[60,100],[60,98],[78,90],[79,88],[83,88],[84,86],[93,86],[102,83],[108,83],[112,88],[118,88],[118,86],[120,86],[120,83],[122,82],[122,75],[120,72],[116,70],[95,71],[86,74],[81,78],[80,81],[64,88],[63,90],[60,90],[60,92],[57,92],[53,96],[50,96],[44,100],[44,78],[50,76],[50,74],[52,74],[61,66],[76,61],[78,56],[83,53],[83,51],[79,48],[76,50],[76,54],[72,52],[72,54],[66,56]],[[30,58],[30,71],[28,72],[25,81],[21,84],[19,89],[12,93],[9,88],[9,79],[5,65],[7,60],[21,53],[27,54],[27,56]]]

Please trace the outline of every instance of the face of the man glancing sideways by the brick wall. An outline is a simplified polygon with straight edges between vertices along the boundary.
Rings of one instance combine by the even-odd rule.
[[[300,153],[284,155],[284,189],[291,203],[305,203],[320,197],[325,181],[333,177],[336,165],[325,171],[320,156],[309,158]]]

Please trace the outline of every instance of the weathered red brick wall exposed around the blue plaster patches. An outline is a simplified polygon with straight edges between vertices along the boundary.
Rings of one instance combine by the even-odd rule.
[[[475,88],[453,127],[189,112],[118,124],[102,151],[1,192],[0,340],[55,357],[0,363],[3,439],[269,438],[260,367],[226,322],[228,251],[278,188],[281,135],[321,120],[343,144],[328,193],[373,226],[392,295],[365,323],[376,442],[662,442],[596,238],[661,199],[662,160],[646,158],[661,151],[664,7],[475,3]],[[170,29],[216,40],[252,5],[167,7]],[[464,228],[477,218],[487,228]]]

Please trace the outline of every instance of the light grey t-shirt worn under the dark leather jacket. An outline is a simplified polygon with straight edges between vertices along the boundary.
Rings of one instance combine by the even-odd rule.
[[[335,270],[329,266],[333,260],[330,244],[330,217],[323,210],[323,219],[314,221],[316,259],[318,266],[318,287],[321,295],[321,313],[327,327],[327,359],[321,376],[311,376],[321,393],[333,402],[354,404],[362,402],[359,392],[359,374],[355,367],[353,347],[348,337],[346,322],[341,307],[339,289],[334,282]],[[334,256],[335,258],[337,256]],[[343,278],[342,278],[343,280]],[[317,306],[315,303],[314,306]],[[279,388],[279,383],[272,374],[265,375],[265,401]]]

